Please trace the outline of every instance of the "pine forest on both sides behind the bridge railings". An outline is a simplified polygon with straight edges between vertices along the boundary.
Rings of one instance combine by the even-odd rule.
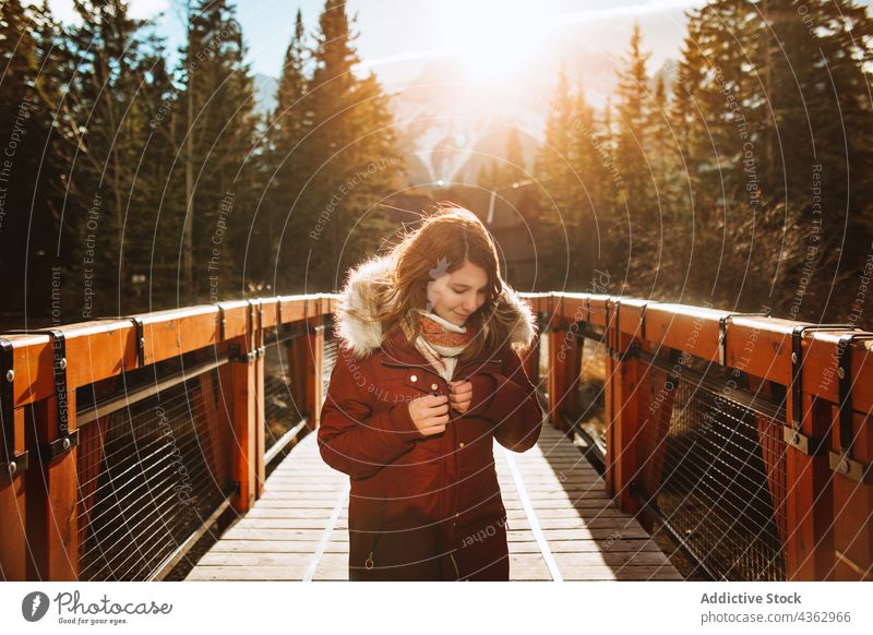
[[[396,236],[381,202],[442,200],[344,1],[313,33],[298,10],[266,113],[234,3],[189,0],[175,55],[124,0],[75,10],[0,3],[4,325],[335,291]],[[530,167],[513,130],[469,183],[536,184],[521,290],[608,272],[611,295],[869,327],[871,37],[852,1],[715,0],[658,70],[635,27],[605,106],[548,70]]]

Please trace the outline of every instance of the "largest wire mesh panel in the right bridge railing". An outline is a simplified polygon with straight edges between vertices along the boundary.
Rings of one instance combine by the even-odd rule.
[[[785,579],[786,444],[779,421],[689,376],[651,367],[643,483],[715,576]]]

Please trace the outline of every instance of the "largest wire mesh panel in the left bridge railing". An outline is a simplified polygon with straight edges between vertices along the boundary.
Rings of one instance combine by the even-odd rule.
[[[80,579],[147,579],[224,501],[219,385],[213,369],[80,428]]]

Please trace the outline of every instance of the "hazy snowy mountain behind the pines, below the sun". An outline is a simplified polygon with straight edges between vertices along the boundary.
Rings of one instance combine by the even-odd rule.
[[[602,108],[614,91],[621,60],[602,50],[579,49],[578,45],[573,50],[574,55],[566,58],[571,85],[574,89],[583,87],[588,100]],[[649,72],[662,74],[669,91],[675,61],[667,60]],[[533,170],[557,81],[554,65],[533,61],[500,83],[470,79],[449,60],[428,63],[412,82],[390,92],[410,183],[475,184],[483,165],[492,160],[500,165],[505,157],[511,129],[519,133],[524,168]],[[266,115],[275,109],[278,81],[255,74],[254,86],[256,111]]]

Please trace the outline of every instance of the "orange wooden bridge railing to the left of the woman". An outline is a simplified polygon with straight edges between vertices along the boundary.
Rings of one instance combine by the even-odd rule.
[[[219,489],[228,493],[228,502],[239,513],[249,510],[260,495],[265,476],[262,424],[265,334],[278,337],[278,330],[296,331],[287,347],[289,391],[309,428],[314,428],[323,393],[320,378],[324,319],[333,310],[332,302],[323,296],[243,300],[3,335],[0,338],[2,577],[80,578],[80,554],[94,551],[84,549],[82,542],[86,540],[86,532],[80,525],[89,523],[92,514],[100,515],[94,511],[89,496],[94,489],[101,487],[99,475],[111,469],[106,455],[111,441],[107,412],[116,411],[118,402],[122,402],[121,405],[135,402],[133,393],[148,393],[141,395],[142,398],[153,397],[158,383],[163,391],[187,378],[200,379],[190,393],[186,384],[184,394],[196,402],[198,415],[189,418],[202,419],[202,426],[198,422],[182,429],[195,429],[193,443],[198,446],[193,452],[191,448],[180,452],[170,443],[157,443],[162,432],[172,436],[172,430],[162,431],[152,426],[153,429],[139,436],[128,434],[119,452],[145,460],[140,456],[142,445],[147,443],[148,450],[142,451],[143,456],[163,453],[163,464],[155,471],[164,475],[160,481],[166,483],[164,489],[176,483],[177,493],[183,493],[179,490],[183,483],[178,477],[167,481],[166,464],[172,459],[170,453],[176,454],[177,463],[170,467],[177,472],[186,468],[179,456],[193,455],[201,468],[205,463],[205,469],[215,471],[211,476],[224,481]],[[194,359],[192,355],[198,356],[196,361],[190,361]],[[181,366],[177,373],[181,376],[152,381],[152,386],[146,376],[142,390],[129,390],[128,381],[137,371],[141,375],[156,372],[162,364],[174,361],[181,361],[177,364]],[[218,374],[212,376],[206,372],[211,370]],[[117,380],[118,387],[110,386],[107,391],[107,382],[111,380]],[[77,408],[76,396],[91,392],[96,395],[94,407]],[[107,392],[116,394],[116,398],[101,400],[99,396]],[[76,421],[77,412],[84,426]],[[145,419],[153,422],[164,417],[159,407],[145,414]],[[176,445],[181,444],[179,440],[174,441]],[[198,458],[196,455],[204,454],[203,445],[207,442],[210,456]],[[88,459],[83,463],[85,455]],[[116,466],[124,460],[121,456],[117,458]],[[117,468],[117,471],[135,470]],[[151,496],[156,478],[150,472],[141,478],[146,482],[137,487],[150,489]],[[142,496],[131,496],[132,501],[140,499]],[[124,504],[125,501],[120,501],[113,511],[123,513]],[[166,505],[156,513],[163,520]],[[107,513],[101,515],[108,516]],[[135,523],[131,520],[130,524]],[[104,530],[107,536],[116,535],[107,538],[112,544],[120,542],[117,528],[109,526]],[[122,547],[118,544],[119,549]],[[171,559],[174,553],[165,555]],[[139,553],[136,558],[144,555]],[[128,575],[148,578],[163,568],[160,562],[151,562],[147,567],[137,567],[136,573]],[[125,567],[125,572],[128,570]]]

